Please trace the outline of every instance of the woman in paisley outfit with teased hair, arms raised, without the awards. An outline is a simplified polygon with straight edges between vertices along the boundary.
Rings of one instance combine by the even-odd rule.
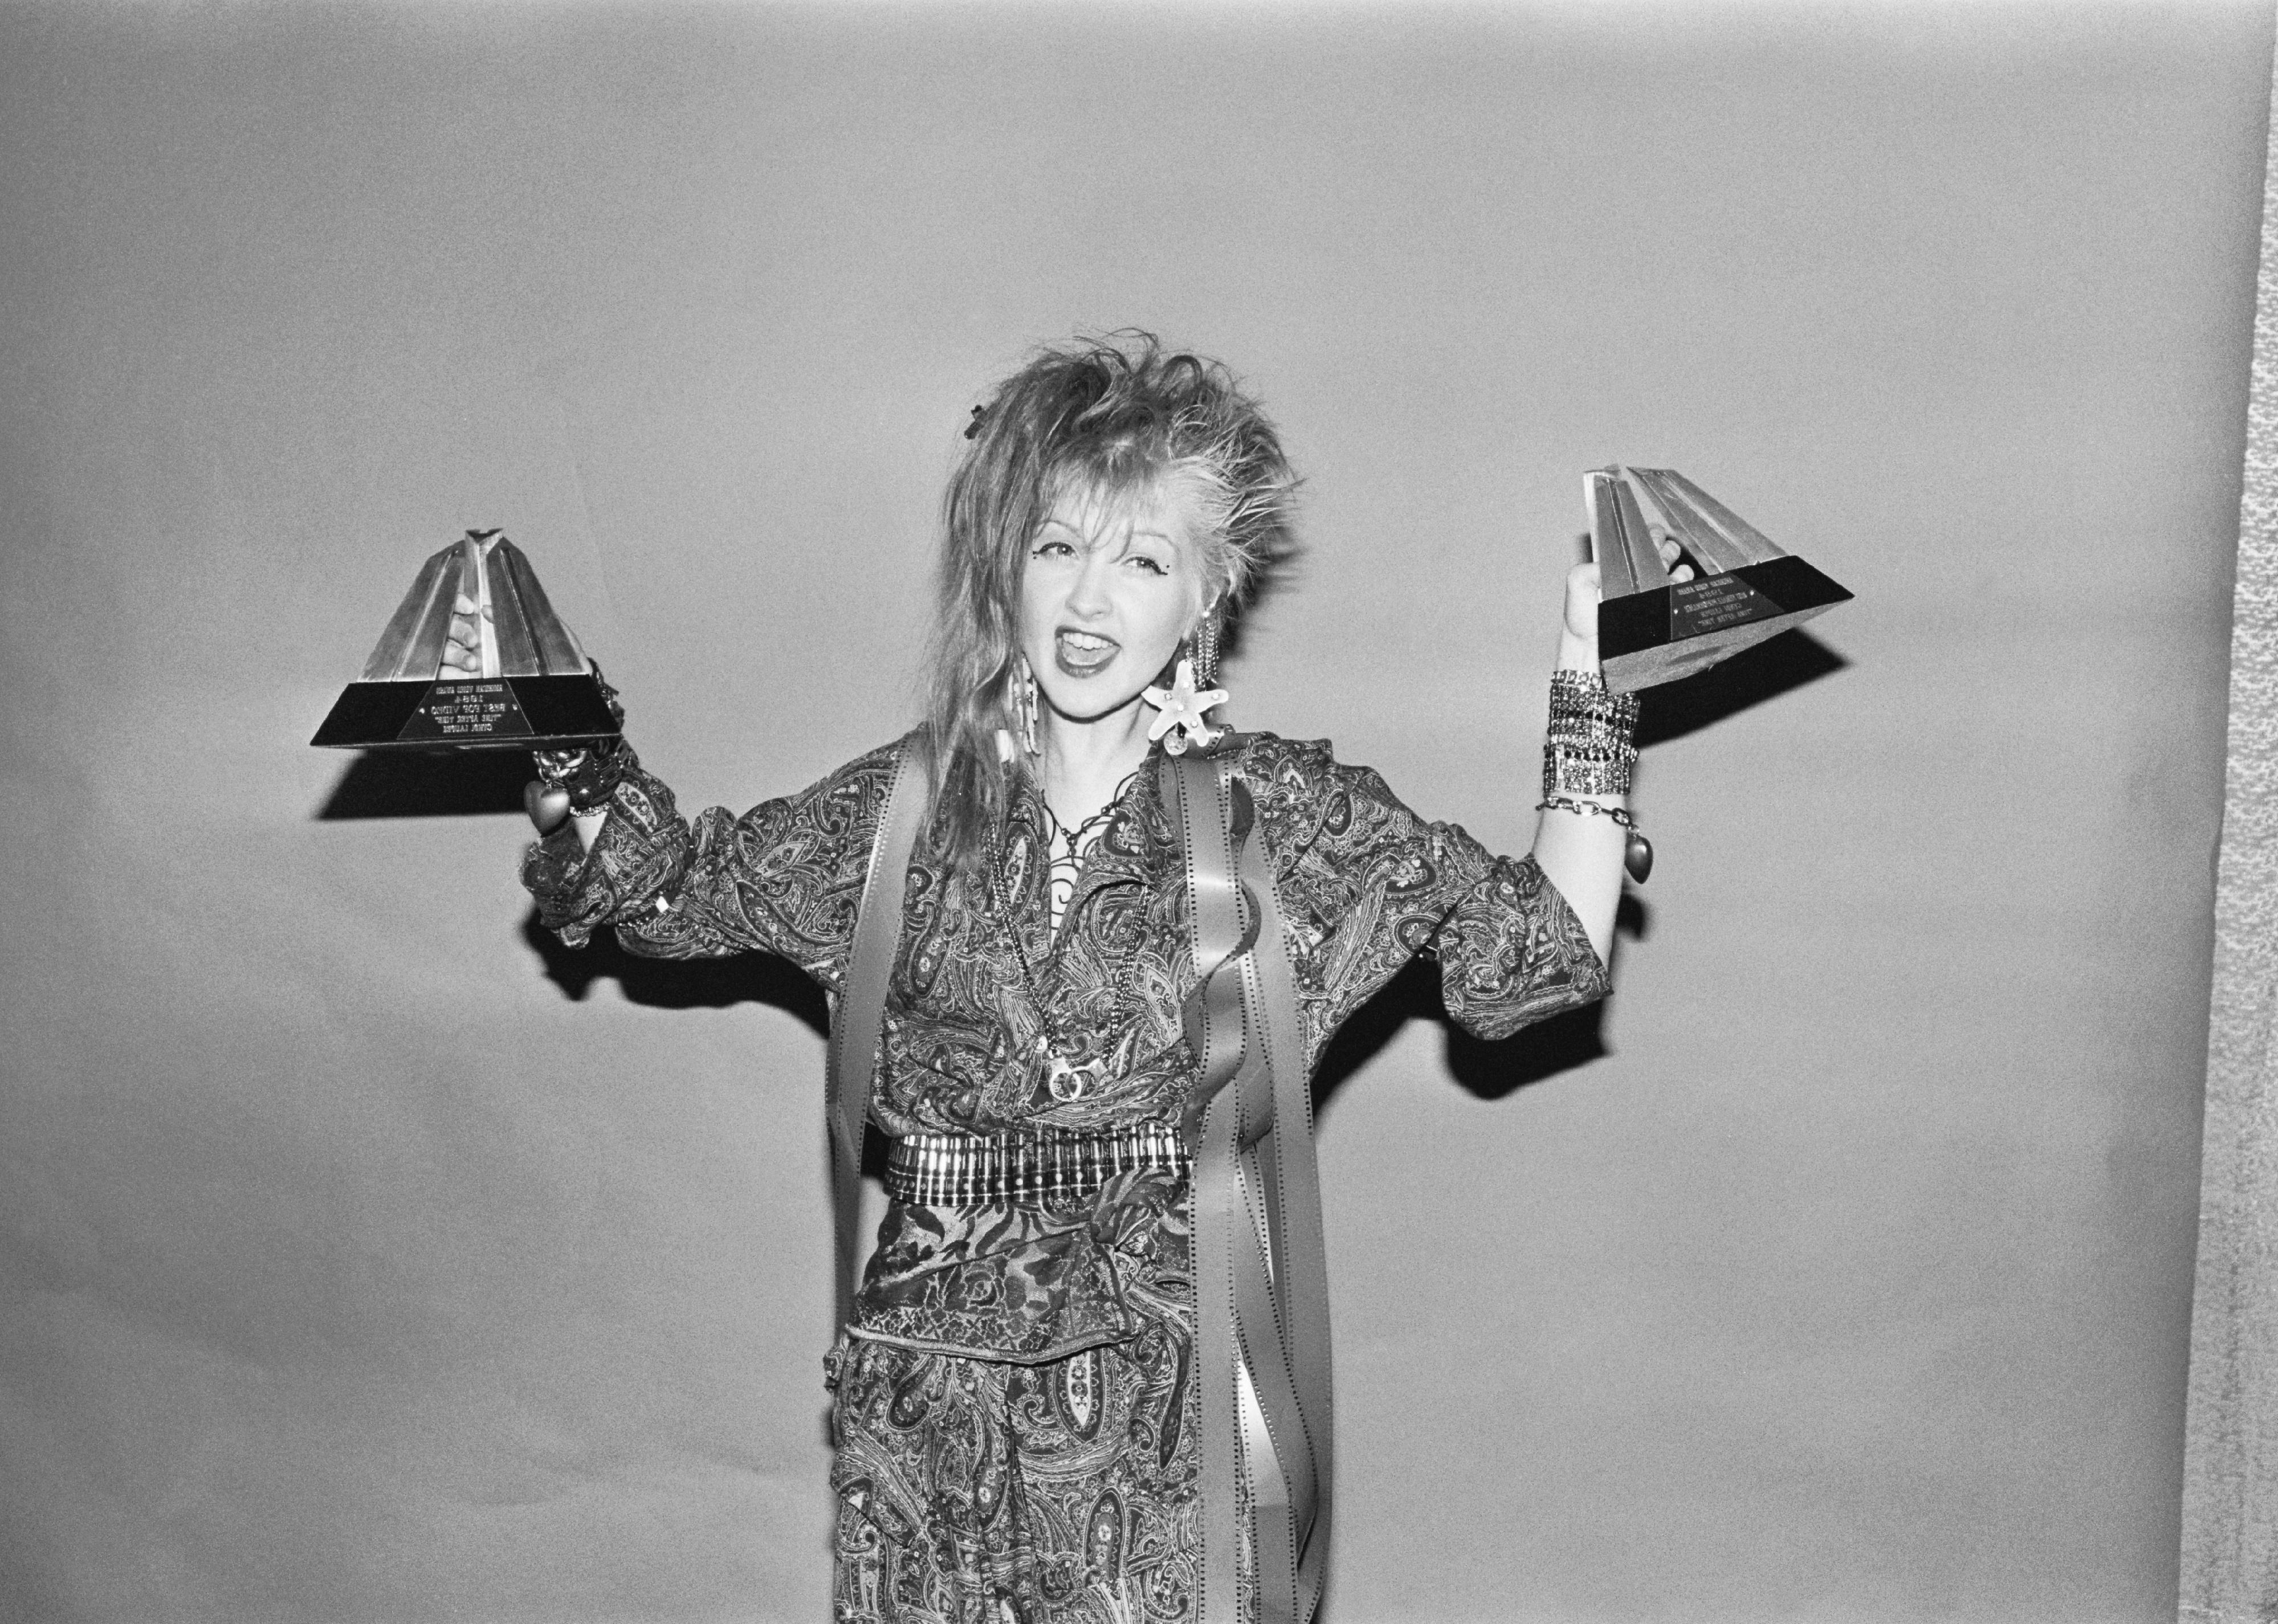
[[[1294,490],[1219,364],[1048,351],[968,437],[925,727],[693,825],[629,749],[542,758],[574,818],[524,879],[572,945],[761,948],[845,1023],[882,806],[923,770],[902,909],[872,909],[893,1143],[827,1360],[836,1617],[1303,1617],[1328,1485],[1305,1075],[1417,952],[1483,1036],[1604,995],[1636,706],[1597,679],[1581,567],[1533,854],[1492,856],[1321,743],[1214,727],[1216,642]],[[1298,1057],[1262,1080],[1276,1020]]]

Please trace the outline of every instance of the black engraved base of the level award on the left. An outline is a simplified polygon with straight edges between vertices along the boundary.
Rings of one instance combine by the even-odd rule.
[[[620,736],[592,676],[349,683],[310,745],[326,749],[576,749]]]

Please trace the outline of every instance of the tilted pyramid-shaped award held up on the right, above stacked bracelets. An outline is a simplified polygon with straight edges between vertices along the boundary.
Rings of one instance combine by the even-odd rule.
[[[1615,692],[1704,672],[1852,597],[1674,469],[1592,469],[1583,506],[1599,567],[1597,651]],[[1690,581],[1670,581],[1661,538],[1693,565]]]

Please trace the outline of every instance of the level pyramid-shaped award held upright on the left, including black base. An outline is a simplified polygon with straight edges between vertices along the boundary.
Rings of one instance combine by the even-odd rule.
[[[444,667],[451,604],[478,608],[481,676]],[[312,745],[328,749],[576,749],[615,738],[617,720],[585,651],[554,613],[538,572],[499,531],[426,560],[364,674]]]

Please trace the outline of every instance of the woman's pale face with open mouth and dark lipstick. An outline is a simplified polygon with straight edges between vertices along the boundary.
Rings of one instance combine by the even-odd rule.
[[[1180,487],[1059,497],[1027,544],[1021,651],[1059,715],[1089,722],[1153,683],[1203,613],[1198,515]]]

